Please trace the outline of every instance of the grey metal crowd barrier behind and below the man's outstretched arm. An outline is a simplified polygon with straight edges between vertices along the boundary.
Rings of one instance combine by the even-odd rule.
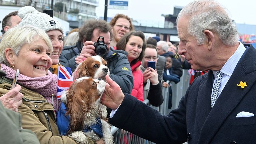
[[[188,70],[183,70],[180,82],[175,84],[172,82],[172,108],[168,109],[169,88],[162,89],[164,102],[160,107],[150,105],[153,109],[158,110],[162,115],[167,115],[171,110],[178,108],[180,99],[185,95],[189,86],[190,76]],[[145,104],[149,104],[149,100],[144,100]],[[111,134],[114,136],[115,144],[155,144],[141,137],[138,137],[128,131],[111,126]]]

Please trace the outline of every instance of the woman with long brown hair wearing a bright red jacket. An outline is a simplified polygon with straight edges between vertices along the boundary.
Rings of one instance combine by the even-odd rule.
[[[143,102],[143,74],[140,65],[146,48],[145,35],[141,31],[129,32],[118,41],[116,48],[128,53],[134,83],[131,95]]]

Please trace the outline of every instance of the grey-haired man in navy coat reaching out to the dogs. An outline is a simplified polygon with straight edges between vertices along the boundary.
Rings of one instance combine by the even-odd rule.
[[[167,116],[129,94],[108,76],[101,102],[115,110],[109,123],[158,144],[252,144],[256,135],[256,49],[238,42],[237,29],[215,1],[194,1],[177,17],[180,44],[197,77]]]

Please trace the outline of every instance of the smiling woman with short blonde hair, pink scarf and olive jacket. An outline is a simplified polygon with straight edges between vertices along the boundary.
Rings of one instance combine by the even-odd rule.
[[[32,130],[40,143],[77,144],[68,136],[60,136],[56,125],[55,111],[58,109],[51,95],[57,94],[57,75],[49,71],[52,51],[49,36],[40,28],[25,25],[8,30],[0,45],[1,70],[6,73],[0,76],[0,96],[18,86],[11,89],[19,69],[17,83],[23,98],[18,112],[22,116],[22,128]],[[88,143],[96,142],[88,138]]]

